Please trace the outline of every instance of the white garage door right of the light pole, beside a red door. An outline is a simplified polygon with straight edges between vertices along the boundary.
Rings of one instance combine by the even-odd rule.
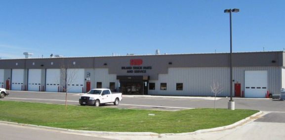
[[[244,97],[265,98],[267,93],[267,71],[244,71]]]

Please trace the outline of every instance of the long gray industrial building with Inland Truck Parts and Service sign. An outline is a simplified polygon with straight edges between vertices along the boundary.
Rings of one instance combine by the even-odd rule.
[[[0,87],[10,90],[83,93],[110,88],[123,94],[213,96],[219,83],[230,96],[229,53],[0,60]],[[232,54],[233,95],[265,98],[285,88],[285,53]]]

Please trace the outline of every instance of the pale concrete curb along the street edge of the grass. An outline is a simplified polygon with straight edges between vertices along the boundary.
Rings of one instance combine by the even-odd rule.
[[[240,120],[234,124],[222,126],[222,127],[216,127],[216,128],[210,128],[210,129],[203,129],[203,130],[197,130],[195,132],[189,132],[189,133],[166,133],[166,134],[158,134],[153,132],[104,132],[104,131],[85,131],[85,130],[72,130],[72,129],[63,129],[63,128],[54,128],[54,127],[47,127],[47,126],[38,126],[38,125],[31,125],[31,124],[22,124],[22,123],[14,123],[14,122],[6,122],[6,121],[0,121],[0,123],[3,124],[11,124],[11,125],[19,125],[19,126],[27,126],[32,128],[40,128],[40,129],[48,129],[48,130],[54,130],[54,131],[60,131],[63,133],[72,133],[72,134],[85,134],[85,135],[113,135],[113,136],[169,136],[169,135],[191,135],[196,133],[206,133],[206,132],[214,132],[214,131],[222,131],[226,129],[232,129],[237,126],[240,126],[250,120],[253,120],[257,116],[261,115],[263,112],[259,111],[249,117],[246,117],[243,120]]]

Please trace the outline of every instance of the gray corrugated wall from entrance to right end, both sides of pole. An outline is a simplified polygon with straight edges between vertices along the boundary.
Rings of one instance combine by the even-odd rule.
[[[244,90],[244,70],[268,70],[268,89],[270,93],[278,93],[281,88],[280,67],[236,67],[233,68],[234,83],[241,83]],[[179,96],[213,96],[210,86],[213,82],[220,83],[223,92],[219,96],[230,96],[230,69],[227,67],[197,67],[197,68],[168,68],[167,74],[159,74],[155,90],[149,90],[149,95],[179,95]],[[167,83],[167,90],[160,90],[160,84]],[[176,90],[176,83],[183,83],[183,91]],[[233,91],[234,91],[233,83]],[[234,94],[234,92],[233,92]]]

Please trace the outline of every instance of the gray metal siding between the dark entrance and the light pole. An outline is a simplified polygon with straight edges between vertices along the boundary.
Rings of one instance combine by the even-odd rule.
[[[219,96],[229,96],[229,68],[168,68],[168,74],[159,74],[159,80],[150,95],[213,96],[210,86],[218,82],[223,87]],[[167,90],[160,90],[160,84],[167,83]],[[176,83],[183,83],[183,91],[176,90]]]

